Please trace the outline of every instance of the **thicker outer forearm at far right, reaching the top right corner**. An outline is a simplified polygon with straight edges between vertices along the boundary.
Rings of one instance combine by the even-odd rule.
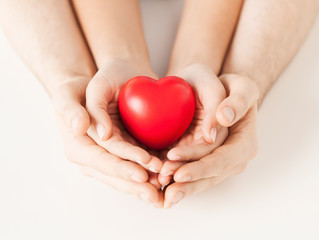
[[[305,39],[318,9],[318,0],[247,0],[223,73],[253,79],[260,105]]]

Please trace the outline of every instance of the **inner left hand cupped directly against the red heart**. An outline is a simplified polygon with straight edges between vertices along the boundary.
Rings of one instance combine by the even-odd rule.
[[[139,75],[157,78],[151,70],[122,59],[110,59],[99,69],[86,91],[86,107],[91,117],[88,135],[110,153],[158,173],[162,161],[151,156],[127,132],[118,112],[121,87],[130,78]]]

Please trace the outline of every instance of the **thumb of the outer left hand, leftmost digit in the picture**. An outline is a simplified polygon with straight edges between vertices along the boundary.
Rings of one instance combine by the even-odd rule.
[[[86,134],[90,126],[90,117],[82,106],[87,83],[87,78],[78,77],[52,91],[52,102],[56,112],[75,135]]]

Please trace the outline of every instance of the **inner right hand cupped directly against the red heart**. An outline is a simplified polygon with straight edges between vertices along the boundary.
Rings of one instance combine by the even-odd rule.
[[[172,175],[186,161],[198,160],[220,146],[228,135],[226,127],[221,127],[216,119],[218,105],[226,93],[223,84],[209,66],[189,65],[176,73],[192,86],[196,97],[194,119],[182,138],[167,152],[159,175],[159,182],[167,185]],[[178,160],[178,161],[175,161]]]

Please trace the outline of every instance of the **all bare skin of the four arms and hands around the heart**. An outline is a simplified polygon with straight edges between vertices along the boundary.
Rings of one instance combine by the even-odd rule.
[[[6,34],[52,98],[68,158],[77,163],[84,174],[151,202],[156,207],[169,208],[182,198],[208,189],[245,169],[247,162],[257,153],[257,106],[299,48],[319,9],[319,3],[315,0],[245,1],[234,39],[226,54],[241,2],[234,1],[227,7],[228,1],[216,0],[210,8],[208,4],[213,1],[198,2],[186,2],[168,74],[184,76],[191,82],[200,93],[198,100],[205,99],[204,90],[210,89],[207,94],[211,93],[210,87],[214,84],[222,84],[224,89],[218,87],[217,97],[212,100],[214,104],[207,101],[215,105],[216,115],[215,112],[205,111],[206,108],[213,108],[203,104],[202,112],[212,118],[202,114],[199,119],[203,121],[193,123],[193,129],[197,130],[187,132],[184,140],[173,146],[175,151],[187,144],[196,147],[187,148],[190,151],[185,155],[181,151],[180,158],[175,160],[172,159],[174,148],[168,153],[163,151],[167,153],[166,162],[172,163],[168,166],[171,166],[175,181],[165,189],[165,196],[159,191],[157,175],[145,170],[160,164],[155,157],[157,153],[143,150],[143,146],[137,146],[129,136],[122,134],[117,113],[112,108],[124,78],[135,74],[154,76],[137,1],[132,0],[125,6],[117,0],[100,0],[96,1],[96,5],[74,1],[97,66],[67,1],[0,2],[0,21]],[[106,11],[108,14],[105,14]],[[198,12],[202,14],[197,15]],[[101,22],[90,17],[92,15],[98,16]],[[213,15],[215,17],[211,18]],[[129,27],[126,24],[128,19]],[[203,29],[198,31],[198,27]],[[93,77],[96,69],[99,71]],[[222,75],[218,80],[216,76],[220,72]],[[206,84],[197,80],[202,77],[211,79],[211,85],[204,87]],[[105,88],[104,85],[110,87]],[[95,89],[103,89],[103,93],[110,94],[107,94],[108,98],[104,96],[104,100],[101,100],[103,96],[94,98]],[[91,122],[84,108],[86,100]],[[226,107],[233,111],[230,120],[227,118],[229,111],[228,114],[223,111]],[[101,109],[103,111],[99,111]],[[205,116],[211,119],[206,121],[207,124],[204,124]],[[100,131],[96,131],[98,123],[103,127],[99,128]],[[89,126],[90,137],[85,134]],[[230,127],[229,137],[219,146],[223,141],[222,126]],[[210,134],[213,127],[218,131],[216,141]],[[202,139],[199,139],[204,141],[196,142],[196,133],[202,134]],[[131,152],[119,151],[123,147]],[[201,147],[207,151],[206,156],[201,156],[203,151],[198,150]],[[132,155],[140,159],[134,159]],[[143,167],[134,163],[137,161],[141,161]]]

